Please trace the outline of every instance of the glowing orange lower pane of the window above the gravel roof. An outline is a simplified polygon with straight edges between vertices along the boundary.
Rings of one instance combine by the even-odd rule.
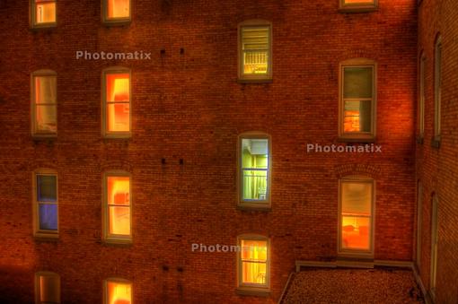
[[[342,217],[342,248],[370,249],[370,219],[357,216]]]

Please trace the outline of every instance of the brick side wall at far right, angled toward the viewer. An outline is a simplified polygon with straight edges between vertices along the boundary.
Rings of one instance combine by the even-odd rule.
[[[417,179],[423,187],[421,258],[419,274],[430,289],[431,204],[438,197],[436,302],[458,300],[458,3],[454,0],[423,0],[418,6],[418,54],[426,57],[425,135],[417,144]],[[440,147],[431,146],[434,135],[435,44],[442,37],[443,89]],[[417,131],[418,134],[418,131]]]

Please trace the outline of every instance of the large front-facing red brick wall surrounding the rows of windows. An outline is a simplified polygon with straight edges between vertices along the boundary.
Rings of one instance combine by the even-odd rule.
[[[379,3],[339,13],[324,0],[137,0],[129,26],[107,28],[100,4],[84,0],[58,3],[56,29],[30,30],[28,3],[2,2],[0,297],[32,301],[33,274],[48,270],[61,277],[63,302],[100,303],[102,280],[122,277],[137,303],[273,303],[295,260],[336,258],[338,179],[356,174],[376,181],[374,258],[411,260],[417,4]],[[272,83],[237,83],[237,24],[251,19],[272,22]],[[152,60],[76,60],[78,50],[144,50]],[[383,152],[307,153],[307,143],[339,143],[339,62],[355,57],[378,64]],[[101,71],[116,65],[132,70],[128,140],[101,136]],[[34,141],[30,74],[43,68],[57,72],[58,135]],[[237,135],[252,130],[272,138],[269,212],[236,207]],[[57,241],[32,237],[39,168],[58,173]],[[109,169],[132,174],[131,246],[101,241]],[[191,252],[243,233],[270,239],[268,298],[236,295],[234,253]]]

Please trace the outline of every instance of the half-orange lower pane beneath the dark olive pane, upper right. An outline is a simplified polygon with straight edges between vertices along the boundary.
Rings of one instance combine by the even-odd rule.
[[[344,107],[344,132],[371,132],[372,100],[345,100]]]

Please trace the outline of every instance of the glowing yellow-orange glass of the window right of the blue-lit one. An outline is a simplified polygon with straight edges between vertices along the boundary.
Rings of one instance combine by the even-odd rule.
[[[110,234],[130,235],[130,181],[128,177],[108,178]]]

